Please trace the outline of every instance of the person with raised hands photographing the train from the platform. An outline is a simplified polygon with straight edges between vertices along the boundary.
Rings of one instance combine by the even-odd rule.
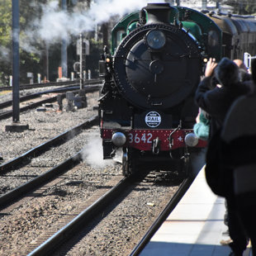
[[[227,201],[229,233],[230,238],[233,240],[229,245],[234,253],[233,255],[242,256],[248,244],[248,239],[242,225],[239,225],[239,218],[234,210],[234,201],[230,196],[231,178],[225,178],[221,181],[216,176],[216,173],[220,174],[221,172],[221,168],[218,165],[219,145],[217,142],[220,140],[220,130],[231,104],[235,99],[249,93],[251,90],[240,82],[239,67],[230,59],[223,58],[218,65],[215,65],[213,59],[210,59],[207,63],[207,68],[209,69],[209,74],[202,79],[195,97],[198,106],[211,116],[210,141],[206,152],[206,181],[213,192],[225,197]],[[221,87],[213,85],[213,74],[215,74]]]

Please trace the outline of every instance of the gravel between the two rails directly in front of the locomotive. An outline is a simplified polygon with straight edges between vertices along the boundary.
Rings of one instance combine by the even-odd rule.
[[[68,253],[55,256],[129,256],[177,189],[140,183]]]

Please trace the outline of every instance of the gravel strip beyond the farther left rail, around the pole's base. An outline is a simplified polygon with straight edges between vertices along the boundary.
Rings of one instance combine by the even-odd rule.
[[[90,96],[89,96],[90,94]],[[20,114],[20,123],[28,125],[29,130],[23,132],[7,132],[5,127],[12,125],[12,118],[1,121],[0,154],[4,161],[8,161],[25,153],[28,149],[36,147],[59,133],[81,124],[90,117],[97,115],[92,106],[97,105],[98,92],[88,94],[88,104],[91,107],[77,111],[57,111],[59,106],[54,104],[47,111],[27,111]],[[64,101],[65,104],[65,101]]]

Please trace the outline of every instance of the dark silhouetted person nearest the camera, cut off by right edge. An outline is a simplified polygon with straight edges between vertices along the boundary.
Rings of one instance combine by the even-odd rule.
[[[256,59],[252,61],[254,92],[240,97],[228,112],[221,139],[222,162],[232,168],[236,211],[256,255]]]

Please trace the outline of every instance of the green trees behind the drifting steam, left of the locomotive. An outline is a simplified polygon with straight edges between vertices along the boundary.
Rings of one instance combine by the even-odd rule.
[[[59,7],[62,0],[57,0]],[[91,0],[66,0],[67,12],[77,12],[88,9]],[[60,64],[60,41],[55,45],[49,45],[40,38],[37,33],[38,22],[45,14],[45,7],[54,0],[19,0],[20,2],[20,81],[28,83],[26,73],[41,73],[45,76],[46,61],[50,56],[50,70],[57,70]],[[56,0],[55,0],[56,2]],[[29,7],[28,7],[29,5]],[[37,21],[37,23],[35,22]],[[45,31],[47,33],[48,31]],[[36,36],[35,36],[36,35]],[[72,42],[72,40],[70,40]],[[69,52],[73,53],[73,43],[70,44]],[[47,54],[47,55],[46,55]],[[47,58],[46,58],[47,57]],[[73,55],[71,56],[73,58]],[[70,63],[71,61],[69,61]],[[57,71],[51,78],[56,78]],[[7,84],[7,77],[12,74],[12,0],[0,1],[0,84]]]

